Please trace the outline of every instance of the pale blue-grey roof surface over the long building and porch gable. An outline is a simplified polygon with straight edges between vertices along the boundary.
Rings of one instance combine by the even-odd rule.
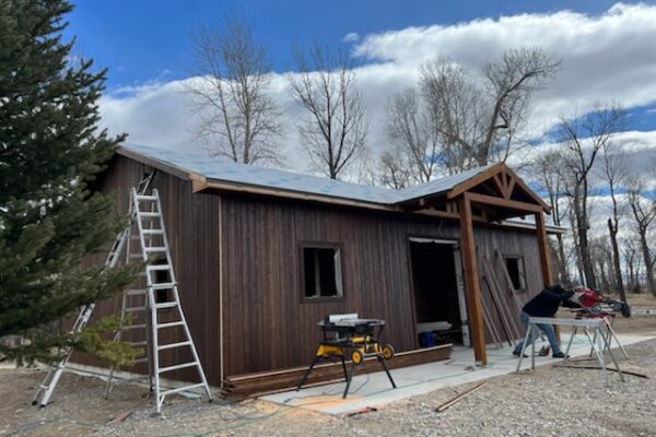
[[[487,170],[492,165],[472,168],[457,175],[443,177],[403,190],[350,184],[325,177],[301,175],[297,173],[235,163],[225,157],[208,157],[194,153],[125,144],[127,151],[138,153],[151,160],[196,173],[209,180],[244,184],[278,190],[327,196],[370,203],[396,204],[429,194],[450,190],[457,185]]]

